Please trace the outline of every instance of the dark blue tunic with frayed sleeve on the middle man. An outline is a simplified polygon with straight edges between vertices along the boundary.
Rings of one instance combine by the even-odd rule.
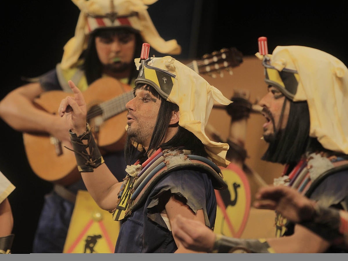
[[[195,213],[202,209],[206,226],[214,227],[216,198],[208,175],[193,170],[173,171],[156,184],[142,207],[122,220],[115,253],[173,253],[177,250],[173,235],[160,216],[172,195]]]

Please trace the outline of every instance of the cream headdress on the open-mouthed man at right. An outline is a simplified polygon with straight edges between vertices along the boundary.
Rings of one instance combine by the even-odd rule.
[[[277,46],[262,57],[265,81],[293,101],[307,101],[310,137],[348,154],[348,69],[336,57],[304,46]]]

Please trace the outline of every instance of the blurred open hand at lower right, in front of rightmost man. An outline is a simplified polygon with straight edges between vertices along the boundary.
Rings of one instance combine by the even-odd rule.
[[[256,193],[254,202],[254,207],[276,210],[286,219],[296,223],[311,220],[315,213],[314,206],[314,201],[286,186],[262,187]]]

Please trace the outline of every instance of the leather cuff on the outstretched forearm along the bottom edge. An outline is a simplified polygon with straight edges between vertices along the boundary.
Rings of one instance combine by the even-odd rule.
[[[275,253],[265,239],[239,239],[216,235],[213,253]]]

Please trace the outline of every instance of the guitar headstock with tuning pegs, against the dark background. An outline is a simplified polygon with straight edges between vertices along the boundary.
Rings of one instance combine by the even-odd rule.
[[[200,60],[192,61],[192,69],[198,74],[209,74],[216,78],[216,74],[223,77],[223,71],[233,74],[232,68],[243,62],[243,54],[237,48],[223,48],[211,54],[205,54]]]

